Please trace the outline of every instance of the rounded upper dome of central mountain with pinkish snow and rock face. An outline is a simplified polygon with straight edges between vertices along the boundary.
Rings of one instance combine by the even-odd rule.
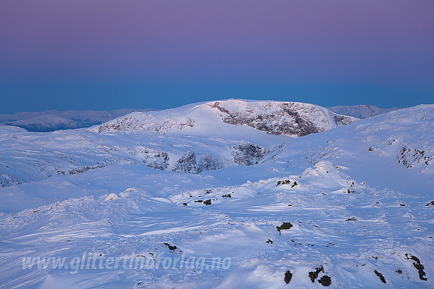
[[[223,121],[232,125],[247,124],[271,135],[301,137],[324,132],[356,120],[357,118],[339,115],[314,104],[230,99],[191,104],[165,111],[132,113],[89,130],[124,134],[143,131],[190,132],[197,130],[195,126],[198,124],[202,128],[207,126],[208,129],[213,129],[214,125]]]

